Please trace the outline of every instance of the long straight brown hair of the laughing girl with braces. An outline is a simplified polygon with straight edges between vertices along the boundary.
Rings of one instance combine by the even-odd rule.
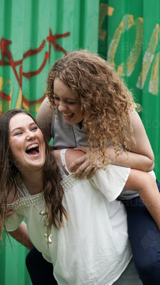
[[[14,185],[16,195],[17,187],[14,182],[14,173],[16,167],[11,161],[9,154],[10,146],[10,137],[9,137],[9,121],[10,119],[17,114],[26,114],[30,116],[34,122],[38,125],[34,117],[27,111],[20,109],[13,109],[3,113],[0,116],[0,239],[2,238],[2,230],[5,228],[5,214],[7,210],[7,199],[11,189]],[[38,125],[40,128],[40,126]],[[41,130],[41,128],[40,128]],[[42,130],[41,130],[42,131]],[[43,132],[42,132],[43,133]],[[63,215],[68,221],[67,212],[62,205],[62,199],[64,195],[63,188],[60,184],[60,174],[57,167],[56,160],[51,152],[51,149],[45,138],[45,152],[46,159],[43,174],[43,191],[44,191],[44,200],[46,208],[49,210],[48,221],[49,221],[49,230],[53,225],[55,229],[59,229],[63,225]]]

